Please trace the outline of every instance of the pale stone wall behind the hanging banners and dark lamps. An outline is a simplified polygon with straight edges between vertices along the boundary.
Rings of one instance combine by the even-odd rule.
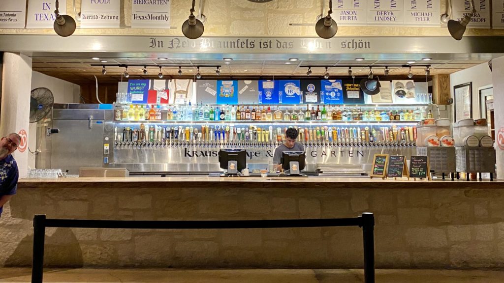
[[[81,11],[82,0],[67,0],[67,14],[75,18],[73,2]],[[247,0],[206,0],[203,14],[207,17],[203,36],[293,36],[317,37],[314,26],[290,26],[315,24],[322,14],[322,0],[275,0],[253,3]],[[120,29],[80,29],[74,35],[165,35],[182,36],[181,26],[189,16],[191,1],[171,1],[171,27],[173,29],[132,29],[132,1],[121,0]],[[196,13],[200,1],[196,1]],[[326,1],[326,13],[329,1]],[[445,1],[440,1],[440,13],[445,11]],[[333,18],[338,22],[337,13]],[[79,27],[80,24],[77,23]],[[0,34],[54,34],[52,29],[0,29]],[[467,29],[464,36],[502,36],[499,29]],[[444,27],[379,27],[338,26],[337,36],[450,36]]]

